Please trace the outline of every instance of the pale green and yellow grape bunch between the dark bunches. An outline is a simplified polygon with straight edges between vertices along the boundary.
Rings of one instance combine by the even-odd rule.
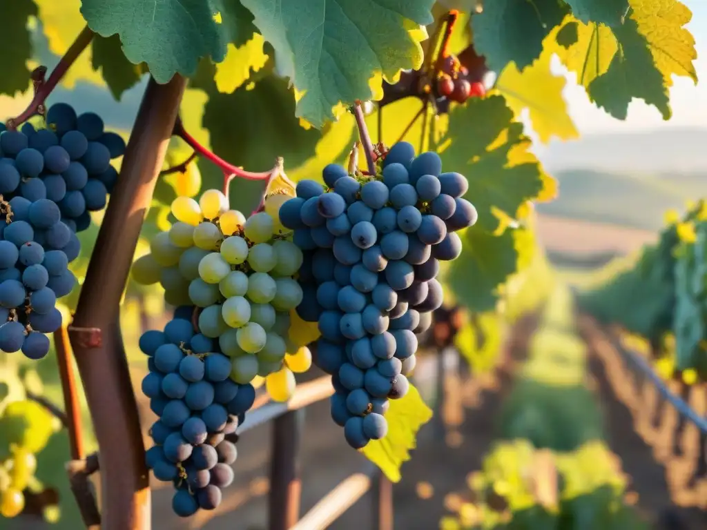
[[[279,199],[272,202],[279,208]],[[196,306],[194,320],[230,358],[233,381],[265,377],[269,394],[284,401],[296,386],[293,372],[308,370],[311,353],[291,333],[291,312],[302,300],[293,275],[303,255],[269,213],[270,203],[266,199],[265,210],[246,219],[228,209],[218,190],[207,190],[198,202],[178,197],[176,222],[135,261],[133,278],[161,283],[171,305]]]

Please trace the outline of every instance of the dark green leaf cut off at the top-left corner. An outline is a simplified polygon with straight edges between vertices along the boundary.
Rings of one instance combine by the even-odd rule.
[[[3,54],[0,93],[16,95],[30,84],[27,61],[32,57],[32,41],[28,23],[37,15],[37,6],[31,0],[13,0],[0,3],[0,20],[3,23],[3,40],[11,47]]]

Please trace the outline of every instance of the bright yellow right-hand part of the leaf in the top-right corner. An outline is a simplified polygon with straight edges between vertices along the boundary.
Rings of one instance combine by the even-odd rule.
[[[695,39],[684,25],[692,12],[677,0],[630,0],[631,18],[638,23],[638,31],[648,40],[655,66],[663,74],[667,86],[672,76],[684,76],[697,83],[697,72],[692,63],[697,59]]]

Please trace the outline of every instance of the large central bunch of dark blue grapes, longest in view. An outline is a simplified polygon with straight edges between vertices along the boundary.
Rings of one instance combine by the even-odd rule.
[[[463,175],[443,173],[436,153],[416,156],[407,142],[390,149],[378,175],[330,164],[322,177],[326,189],[298,182],[280,220],[304,252],[297,311],[321,333],[315,364],[332,375],[332,418],[360,449],[385,437],[388,399],[407,393],[416,334],[443,302],[439,261],[460,255],[456,231],[477,211],[463,198]]]

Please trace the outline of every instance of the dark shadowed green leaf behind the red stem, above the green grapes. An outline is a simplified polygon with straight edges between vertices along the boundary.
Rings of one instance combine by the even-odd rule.
[[[285,79],[260,76],[254,86],[241,86],[230,94],[218,91],[212,74],[200,74],[198,79],[199,88],[209,98],[202,125],[209,131],[212,151],[224,160],[247,170],[267,171],[282,156],[287,170],[314,153],[322,131],[300,126],[294,115],[295,99]],[[225,116],[236,121],[224,119]],[[256,127],[257,136],[253,134]],[[221,189],[220,171],[214,172],[213,165],[199,168],[205,189]],[[252,211],[264,189],[263,181],[238,179],[231,187],[231,206]]]

